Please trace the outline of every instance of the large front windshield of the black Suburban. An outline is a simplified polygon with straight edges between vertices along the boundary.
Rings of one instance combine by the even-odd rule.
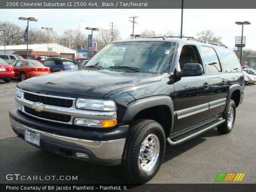
[[[169,72],[174,55],[172,42],[120,42],[105,46],[86,66],[121,69],[137,68],[143,72]]]

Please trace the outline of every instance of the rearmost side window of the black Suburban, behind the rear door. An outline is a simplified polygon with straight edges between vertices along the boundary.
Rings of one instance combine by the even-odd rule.
[[[226,67],[227,72],[241,72],[242,68],[236,57],[236,54],[228,49],[219,49],[220,56],[223,60],[223,65]]]

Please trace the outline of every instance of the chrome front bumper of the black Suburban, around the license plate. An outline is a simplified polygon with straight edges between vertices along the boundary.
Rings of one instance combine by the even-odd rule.
[[[41,130],[36,130],[34,128],[30,128],[28,126],[25,126],[24,124],[16,122],[12,118],[10,118],[10,123],[12,127],[18,130],[19,132],[24,133],[25,129],[39,132],[40,138],[42,140],[54,142],[56,144],[61,144],[64,146],[90,150],[96,156],[96,158],[99,159],[112,159],[121,157],[123,154],[124,144],[126,140],[125,138],[109,141],[84,140],[51,134]]]

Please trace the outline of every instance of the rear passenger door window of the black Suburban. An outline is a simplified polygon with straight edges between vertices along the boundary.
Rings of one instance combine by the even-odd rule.
[[[211,47],[201,47],[204,64],[206,65],[208,74],[215,74],[222,72],[220,61],[215,50]]]

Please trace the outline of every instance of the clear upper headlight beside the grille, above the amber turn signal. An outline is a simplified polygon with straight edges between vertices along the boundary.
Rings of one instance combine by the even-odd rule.
[[[116,103],[111,100],[76,99],[76,108],[98,111],[116,111]]]

